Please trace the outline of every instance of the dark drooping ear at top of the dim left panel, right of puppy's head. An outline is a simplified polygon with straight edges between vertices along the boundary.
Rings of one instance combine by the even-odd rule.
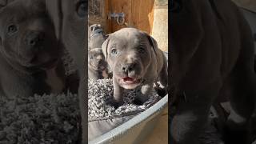
[[[54,22],[55,34],[59,39],[62,31],[62,1],[61,0],[46,0],[46,11]]]

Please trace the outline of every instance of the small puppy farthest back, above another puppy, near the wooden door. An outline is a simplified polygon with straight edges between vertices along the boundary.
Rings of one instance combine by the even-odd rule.
[[[102,30],[102,26],[99,24],[94,24],[89,27],[88,30],[88,46],[89,50],[97,47],[102,47],[102,43],[105,42],[107,36]]]

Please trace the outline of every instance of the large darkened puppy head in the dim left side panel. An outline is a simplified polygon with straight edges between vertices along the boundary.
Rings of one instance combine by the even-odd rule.
[[[1,9],[0,52],[14,69],[24,73],[57,64],[61,51],[42,0],[16,0]]]

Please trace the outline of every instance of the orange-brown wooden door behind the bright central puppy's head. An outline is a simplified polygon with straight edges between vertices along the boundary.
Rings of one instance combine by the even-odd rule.
[[[106,14],[125,13],[125,22],[140,30],[151,34],[154,21],[154,0],[106,0]],[[126,27],[118,25],[115,20],[106,17],[107,33]]]

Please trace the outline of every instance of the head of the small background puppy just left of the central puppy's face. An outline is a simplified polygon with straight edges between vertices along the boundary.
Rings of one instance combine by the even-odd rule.
[[[88,51],[88,67],[92,70],[102,71],[105,70],[107,63],[105,61],[102,48],[94,48]]]

